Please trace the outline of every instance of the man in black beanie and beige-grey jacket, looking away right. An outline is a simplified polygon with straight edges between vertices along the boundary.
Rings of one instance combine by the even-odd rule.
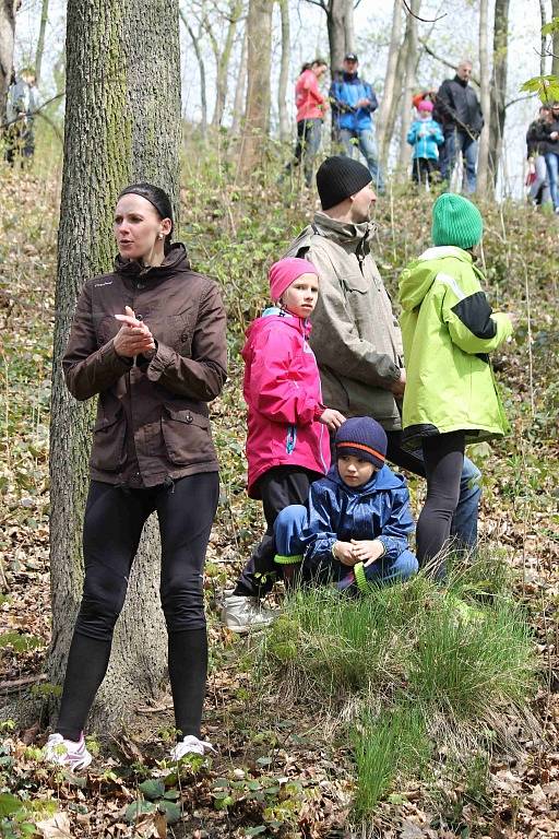
[[[322,211],[292,243],[287,256],[318,269],[320,295],[312,314],[311,347],[322,398],[345,416],[372,416],[386,432],[386,459],[425,477],[423,454],[402,448],[405,389],[402,334],[370,252],[376,194],[366,166],[328,157],[317,173]],[[453,533],[474,546],[480,473],[464,459]]]

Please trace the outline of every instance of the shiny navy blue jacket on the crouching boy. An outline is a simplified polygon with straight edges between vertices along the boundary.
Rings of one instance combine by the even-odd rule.
[[[334,464],[311,484],[307,507],[302,541],[309,568],[332,559],[334,542],[352,539],[378,539],[385,547],[384,558],[396,559],[407,550],[407,535],[414,530],[406,482],[386,465],[354,488],[344,484]]]

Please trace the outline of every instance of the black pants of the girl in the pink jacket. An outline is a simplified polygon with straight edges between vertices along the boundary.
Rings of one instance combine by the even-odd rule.
[[[266,532],[242,569],[234,594],[246,598],[263,596],[273,587],[282,566],[274,563],[276,555],[274,522],[277,513],[290,504],[305,504],[313,481],[322,477],[304,466],[272,466],[257,482],[262,496]]]

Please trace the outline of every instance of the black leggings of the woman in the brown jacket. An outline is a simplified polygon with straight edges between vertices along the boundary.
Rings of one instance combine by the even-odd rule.
[[[56,729],[62,736],[75,741],[85,725],[107,671],[142,529],[154,511],[162,537],[160,598],[176,728],[182,736],[200,735],[207,671],[203,567],[218,492],[216,472],[150,489],[92,482],[83,530],[83,599]]]

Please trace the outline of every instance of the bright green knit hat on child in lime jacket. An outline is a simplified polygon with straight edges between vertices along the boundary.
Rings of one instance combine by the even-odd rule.
[[[454,192],[443,192],[432,208],[433,245],[455,245],[467,250],[481,241],[484,222],[472,201]]]

